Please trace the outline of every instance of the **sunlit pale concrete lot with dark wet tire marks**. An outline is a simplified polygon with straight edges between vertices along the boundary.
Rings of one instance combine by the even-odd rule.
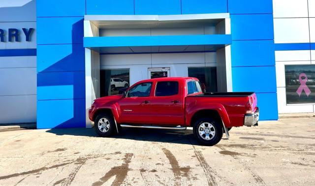
[[[315,119],[232,128],[213,147],[192,130],[0,130],[0,185],[315,185]]]

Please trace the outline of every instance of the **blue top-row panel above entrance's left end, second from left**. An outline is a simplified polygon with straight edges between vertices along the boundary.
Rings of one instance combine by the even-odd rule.
[[[87,0],[87,15],[134,14],[133,0]]]

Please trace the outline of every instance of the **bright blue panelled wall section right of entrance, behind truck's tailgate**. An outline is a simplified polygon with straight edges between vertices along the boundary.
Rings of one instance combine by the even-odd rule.
[[[272,0],[228,0],[233,91],[258,97],[261,120],[277,120]]]

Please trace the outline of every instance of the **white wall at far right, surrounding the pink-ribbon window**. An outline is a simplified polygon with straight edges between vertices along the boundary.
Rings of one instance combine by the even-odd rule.
[[[275,43],[315,42],[315,0],[273,0]],[[315,64],[315,51],[275,51],[279,113],[315,112],[315,104],[286,104],[286,64]]]

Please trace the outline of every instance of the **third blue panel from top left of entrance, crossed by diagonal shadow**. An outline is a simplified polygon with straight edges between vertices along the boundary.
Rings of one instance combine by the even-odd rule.
[[[83,44],[38,45],[37,51],[37,72],[85,70]]]

